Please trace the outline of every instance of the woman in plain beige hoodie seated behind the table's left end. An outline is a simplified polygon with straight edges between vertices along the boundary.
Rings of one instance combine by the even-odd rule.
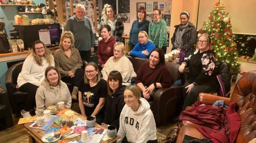
[[[45,70],[45,80],[36,91],[36,115],[40,115],[51,105],[64,102],[66,108],[71,107],[71,96],[68,86],[60,80],[60,73],[54,66]]]

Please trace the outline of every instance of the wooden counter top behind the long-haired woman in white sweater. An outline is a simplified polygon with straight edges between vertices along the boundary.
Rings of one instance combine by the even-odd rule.
[[[52,47],[48,48],[52,53],[55,52],[56,49],[60,47]],[[0,62],[6,62],[6,61],[12,61],[12,60],[19,60],[21,58],[26,58],[28,54],[28,51],[23,51],[23,52],[17,52],[17,53],[5,53],[5,54],[0,54]]]

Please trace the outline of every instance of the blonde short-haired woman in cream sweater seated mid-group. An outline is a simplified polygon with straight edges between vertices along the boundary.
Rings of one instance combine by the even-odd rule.
[[[101,70],[103,79],[108,79],[111,71],[119,71],[122,74],[123,85],[130,85],[132,77],[136,77],[131,61],[125,56],[125,46],[121,42],[114,45],[114,56],[111,56]]]

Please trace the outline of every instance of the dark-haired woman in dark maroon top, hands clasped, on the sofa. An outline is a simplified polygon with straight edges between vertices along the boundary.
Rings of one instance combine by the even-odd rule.
[[[154,49],[149,61],[144,62],[137,71],[136,85],[142,91],[145,99],[153,99],[154,90],[171,86],[170,71],[165,65],[164,52],[162,49]]]

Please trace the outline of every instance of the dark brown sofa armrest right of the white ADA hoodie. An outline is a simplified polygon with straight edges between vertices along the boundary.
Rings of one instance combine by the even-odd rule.
[[[154,94],[153,113],[157,125],[170,120],[179,112],[182,86],[157,89]]]

